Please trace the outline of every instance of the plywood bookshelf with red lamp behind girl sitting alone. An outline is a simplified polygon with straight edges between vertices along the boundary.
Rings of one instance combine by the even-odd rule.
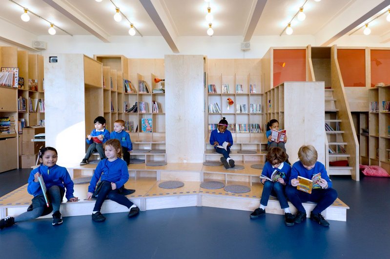
[[[264,101],[261,60],[207,59],[205,85],[205,161],[217,160],[209,144],[210,133],[226,117],[234,144],[231,157],[240,161],[263,161],[267,148],[264,139]],[[233,103],[232,103],[233,102]],[[242,150],[254,154],[243,155]]]

